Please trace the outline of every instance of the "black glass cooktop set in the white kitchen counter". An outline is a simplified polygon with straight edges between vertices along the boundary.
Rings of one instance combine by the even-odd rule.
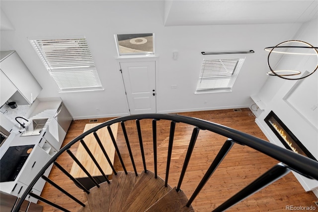
[[[34,145],[10,146],[0,159],[0,182],[14,181]]]

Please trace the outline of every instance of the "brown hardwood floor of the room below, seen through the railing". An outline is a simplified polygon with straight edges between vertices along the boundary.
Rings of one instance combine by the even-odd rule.
[[[254,117],[250,116],[249,113],[251,112],[248,108],[242,108],[241,112],[234,112],[232,109],[224,109],[182,112],[179,114],[193,116],[226,125],[267,140],[265,135],[254,122]],[[111,118],[99,118],[98,122],[101,123],[109,119]],[[153,171],[152,121],[141,120],[140,122],[147,169]],[[73,121],[63,145],[81,134],[85,124],[87,123],[88,120]],[[140,146],[136,131],[136,123],[134,121],[127,121],[125,125],[131,143],[137,171],[141,173],[143,170],[143,163],[141,154],[139,153]],[[158,175],[163,179],[165,177],[169,127],[169,121],[160,120],[157,123]],[[178,183],[192,130],[193,126],[176,123],[170,175],[168,180],[168,184],[171,187],[176,186]],[[190,198],[192,192],[205,174],[209,165],[212,163],[225,140],[226,138],[221,135],[200,130],[188,165],[187,174],[184,177],[183,184],[181,186],[182,191],[188,198]],[[118,128],[117,142],[127,170],[133,171],[121,127]],[[78,144],[72,146],[71,151],[76,154],[77,148]],[[58,158],[57,162],[60,163],[67,171],[71,170],[73,160],[68,154],[62,154]],[[249,147],[235,144],[230,153],[220,164],[219,168],[212,175],[211,179],[205,185],[201,193],[192,203],[193,209],[198,212],[212,211],[276,163],[278,163],[278,161],[263,155],[262,153],[254,151]],[[114,167],[116,170],[122,170],[117,155],[115,155]],[[49,178],[66,191],[73,194],[79,200],[85,202],[84,193],[55,166],[53,167]],[[70,211],[77,211],[77,209],[80,208],[77,203],[48,184],[45,185],[41,196],[62,205]],[[312,192],[305,192],[294,175],[290,173],[272,185],[232,207],[229,211],[285,211],[285,207],[290,205],[305,207],[316,206],[314,203],[315,201],[317,201],[316,196]],[[40,204],[44,206],[45,212],[58,211],[44,203]],[[317,208],[318,207],[316,206],[316,209]]]

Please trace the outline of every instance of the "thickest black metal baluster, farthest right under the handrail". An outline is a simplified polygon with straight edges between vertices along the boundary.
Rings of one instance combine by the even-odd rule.
[[[289,167],[284,165],[283,163],[278,163],[273,166],[270,170],[262,174],[248,186],[243,188],[237,194],[232,196],[229,200],[224,202],[221,206],[216,208],[214,212],[223,212],[232,206],[236,205],[240,201],[244,200],[245,198],[251,196],[252,194],[258,192],[262,188],[268,186],[269,184],[275,182],[276,180],[282,178],[286,174],[288,174],[291,170]]]

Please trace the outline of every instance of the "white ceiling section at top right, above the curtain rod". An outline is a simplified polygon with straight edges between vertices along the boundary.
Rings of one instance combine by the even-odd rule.
[[[318,0],[166,0],[165,26],[304,23]]]

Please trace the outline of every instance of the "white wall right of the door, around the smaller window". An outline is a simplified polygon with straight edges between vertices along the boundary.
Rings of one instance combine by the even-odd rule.
[[[270,31],[280,31],[279,25],[215,25],[175,26],[159,32],[159,112],[201,109],[235,108],[249,106],[249,96],[260,89],[266,79],[266,52],[264,46],[275,36]],[[235,34],[233,34],[235,32]],[[256,35],[257,34],[257,35]],[[268,40],[267,40],[268,39]],[[238,79],[230,93],[194,94],[203,59],[201,51],[250,50]],[[177,61],[172,51],[179,52]],[[229,57],[222,55],[223,58]],[[170,85],[177,85],[171,90]],[[164,99],[163,99],[164,98]],[[206,103],[205,103],[206,102]]]

